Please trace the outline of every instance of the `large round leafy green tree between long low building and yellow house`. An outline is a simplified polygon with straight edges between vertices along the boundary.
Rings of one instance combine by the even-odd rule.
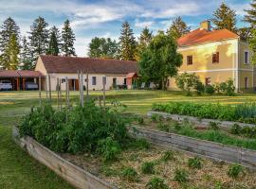
[[[144,82],[154,82],[166,89],[168,77],[174,77],[182,64],[182,55],[177,52],[174,39],[158,32],[141,55],[139,75]]]

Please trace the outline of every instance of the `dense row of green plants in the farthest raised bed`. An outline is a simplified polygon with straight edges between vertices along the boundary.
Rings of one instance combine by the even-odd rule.
[[[153,104],[152,110],[156,112],[190,115],[198,118],[256,124],[256,103],[230,106],[208,103],[170,102],[166,104]]]

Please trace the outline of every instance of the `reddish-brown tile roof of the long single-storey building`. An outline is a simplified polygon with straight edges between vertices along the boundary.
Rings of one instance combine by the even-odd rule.
[[[137,72],[137,61],[40,56],[47,73],[128,74]]]

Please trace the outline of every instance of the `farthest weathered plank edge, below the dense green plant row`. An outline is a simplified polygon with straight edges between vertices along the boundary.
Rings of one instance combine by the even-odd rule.
[[[249,128],[255,127],[255,125],[253,125],[253,124],[246,124],[246,123],[232,122],[232,121],[221,121],[221,120],[216,120],[216,119],[200,119],[200,118],[192,117],[192,116],[188,116],[188,115],[171,114],[168,112],[151,111],[151,112],[147,113],[148,116],[152,116],[153,114],[161,115],[164,118],[172,118],[176,121],[183,121],[184,119],[187,119],[188,121],[191,121],[194,124],[199,124],[199,125],[205,126],[205,127],[208,127],[210,122],[219,123],[220,127],[224,128],[224,129],[230,129],[234,124],[238,124],[241,127],[249,127]]]

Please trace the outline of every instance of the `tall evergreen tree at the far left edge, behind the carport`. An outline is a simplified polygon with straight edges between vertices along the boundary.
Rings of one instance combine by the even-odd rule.
[[[12,41],[15,38],[16,43],[19,45],[20,28],[17,26],[15,21],[9,17],[4,21],[4,24],[1,26],[0,30],[0,66],[4,68],[11,67],[9,65],[9,55],[6,53],[9,52],[9,49],[7,48],[8,45],[10,45],[10,38],[12,35]]]

